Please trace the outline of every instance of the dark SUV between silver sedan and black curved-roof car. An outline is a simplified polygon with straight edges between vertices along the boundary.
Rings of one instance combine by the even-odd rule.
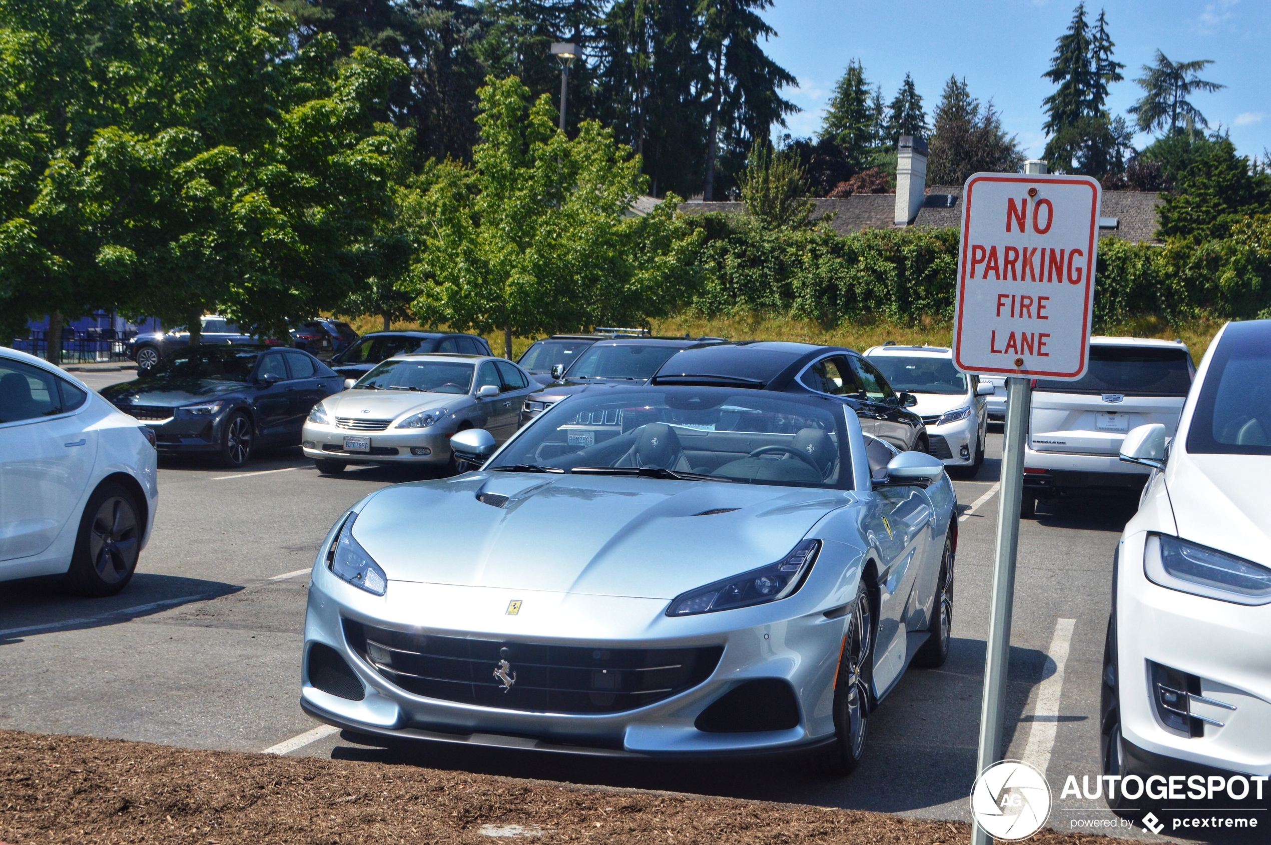
[[[538,393],[531,393],[521,408],[521,424],[530,422],[540,413],[568,395],[578,393],[592,384],[643,385],[653,377],[667,358],[683,349],[713,343],[723,343],[723,338],[615,338],[591,343],[559,374]],[[557,365],[559,367],[559,365]],[[559,370],[558,370],[559,372]],[[555,375],[555,374],[553,374]]]

